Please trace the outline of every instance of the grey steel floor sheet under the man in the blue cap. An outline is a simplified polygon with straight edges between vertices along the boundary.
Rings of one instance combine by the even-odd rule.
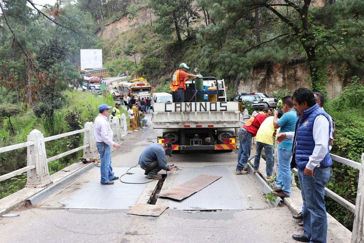
[[[129,168],[113,168],[115,176],[121,176]],[[133,175],[124,175],[126,182],[143,183],[151,181],[139,166],[131,168]],[[46,207],[84,209],[129,209],[134,207],[146,184],[125,184],[114,180],[114,185],[100,184],[100,170],[95,168],[68,185],[62,192],[44,201]],[[89,178],[92,178],[91,180]]]

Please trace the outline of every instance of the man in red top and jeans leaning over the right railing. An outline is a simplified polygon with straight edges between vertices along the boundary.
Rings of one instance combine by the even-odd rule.
[[[240,129],[238,164],[236,165],[235,173],[241,175],[248,174],[248,170],[244,167],[248,162],[250,151],[252,150],[252,138],[257,135],[260,125],[270,115],[272,115],[272,109],[265,107],[255,117],[250,117]]]

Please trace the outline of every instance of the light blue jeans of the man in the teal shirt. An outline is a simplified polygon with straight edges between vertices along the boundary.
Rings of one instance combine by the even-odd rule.
[[[292,150],[279,148],[277,151],[277,180],[276,187],[281,187],[286,195],[291,195],[291,160]]]

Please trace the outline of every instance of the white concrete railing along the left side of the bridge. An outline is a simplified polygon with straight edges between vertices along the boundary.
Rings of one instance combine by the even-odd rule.
[[[122,134],[127,130],[126,116],[121,115],[120,120],[115,117],[112,122],[109,122],[112,132],[114,133],[113,140],[119,142],[122,140]],[[47,158],[46,145],[48,141],[56,140],[59,138],[71,136],[74,134],[84,133],[83,146],[71,149],[64,153],[58,154],[56,156]],[[92,122],[86,122],[84,129],[63,133],[51,137],[44,138],[43,133],[39,130],[33,130],[29,133],[27,142],[21,144],[15,144],[7,147],[0,148],[0,153],[8,152],[15,149],[27,148],[27,166],[20,168],[16,171],[7,173],[0,176],[0,181],[10,179],[14,176],[20,175],[27,172],[27,184],[25,187],[40,188],[46,187],[53,183],[50,179],[48,163],[69,154],[83,150],[83,158],[98,158],[99,153],[96,148],[96,141],[94,135],[94,124]]]

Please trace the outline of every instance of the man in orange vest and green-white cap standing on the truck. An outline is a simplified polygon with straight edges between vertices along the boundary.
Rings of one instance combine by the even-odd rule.
[[[179,64],[179,70],[176,70],[173,74],[172,83],[169,85],[173,102],[185,102],[186,81],[190,78],[199,78],[197,75],[188,74],[187,69],[190,68],[187,67],[186,63],[181,63]]]

